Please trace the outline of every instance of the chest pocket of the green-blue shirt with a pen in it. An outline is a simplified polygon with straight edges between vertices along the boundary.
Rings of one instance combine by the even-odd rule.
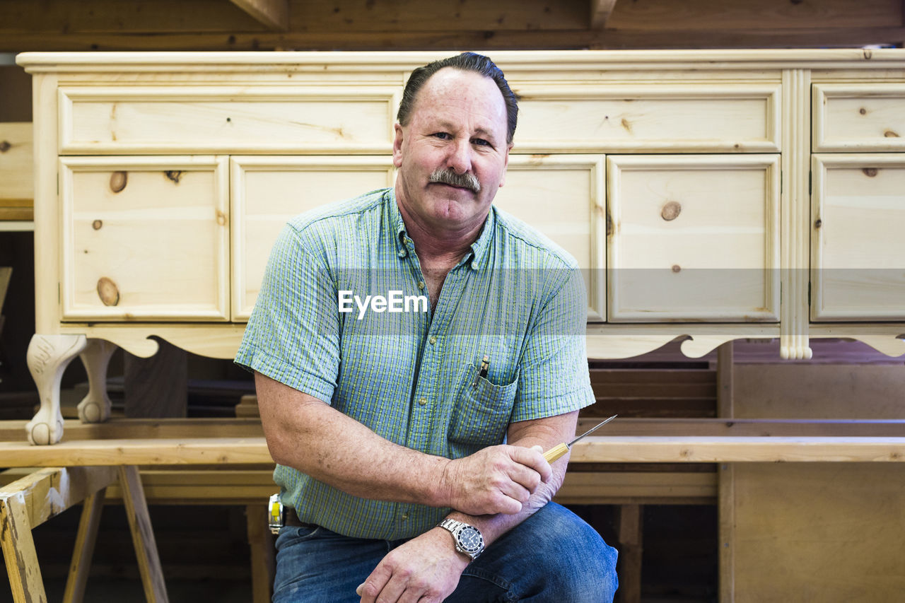
[[[455,388],[449,431],[452,449],[471,455],[481,448],[502,444],[518,387],[518,373],[511,383],[495,385],[478,377],[478,368],[467,363]]]

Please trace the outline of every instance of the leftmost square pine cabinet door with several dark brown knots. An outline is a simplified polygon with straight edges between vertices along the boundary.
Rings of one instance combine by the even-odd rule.
[[[226,321],[227,163],[61,158],[64,321]]]

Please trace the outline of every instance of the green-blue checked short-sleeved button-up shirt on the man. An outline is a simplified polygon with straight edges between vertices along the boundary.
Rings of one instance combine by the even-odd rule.
[[[528,225],[491,207],[433,310],[427,300],[392,188],[323,206],[274,244],[235,361],[447,458],[594,402],[584,279]],[[358,498],[283,465],[274,480],[302,522],[356,538],[411,538],[450,511]]]

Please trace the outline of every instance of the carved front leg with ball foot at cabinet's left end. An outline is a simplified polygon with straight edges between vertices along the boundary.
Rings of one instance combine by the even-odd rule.
[[[84,335],[36,334],[28,344],[28,369],[41,398],[37,414],[25,425],[25,434],[32,444],[56,444],[62,438],[60,380],[87,343]]]

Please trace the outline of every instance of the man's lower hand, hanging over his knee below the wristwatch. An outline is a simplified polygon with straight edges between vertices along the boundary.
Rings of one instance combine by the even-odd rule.
[[[391,550],[356,593],[361,603],[439,603],[452,594],[468,556],[455,550],[449,531],[433,528]]]

